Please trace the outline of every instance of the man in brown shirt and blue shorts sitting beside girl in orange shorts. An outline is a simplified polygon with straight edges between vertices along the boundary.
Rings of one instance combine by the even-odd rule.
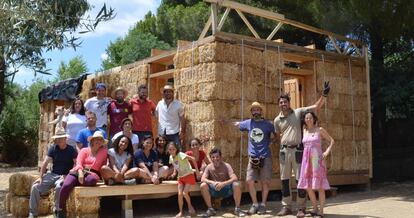
[[[237,217],[245,216],[246,214],[240,210],[241,188],[233,168],[223,161],[219,148],[213,148],[209,155],[212,162],[204,169],[200,185],[201,195],[208,207],[206,215],[216,215],[216,211],[211,205],[212,196],[215,198],[233,196],[236,206],[234,215]]]

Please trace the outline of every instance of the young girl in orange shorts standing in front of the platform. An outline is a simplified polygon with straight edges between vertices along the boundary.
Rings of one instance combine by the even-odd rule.
[[[178,208],[180,212],[175,217],[183,216],[183,198],[185,198],[188,205],[188,212],[190,215],[195,215],[195,210],[191,204],[191,198],[188,194],[191,185],[196,184],[193,169],[191,168],[190,161],[197,166],[194,157],[188,156],[183,152],[178,151],[178,146],[174,142],[168,143],[168,152],[170,153],[170,164],[174,166],[173,176],[178,173]],[[199,173],[198,167],[196,167],[196,173]]]

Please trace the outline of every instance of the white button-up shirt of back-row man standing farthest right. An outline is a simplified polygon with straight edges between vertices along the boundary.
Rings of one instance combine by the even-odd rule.
[[[167,107],[164,99],[158,102],[155,109],[158,117],[158,133],[172,135],[180,132],[180,117],[184,116],[184,106],[178,100],[173,100]]]

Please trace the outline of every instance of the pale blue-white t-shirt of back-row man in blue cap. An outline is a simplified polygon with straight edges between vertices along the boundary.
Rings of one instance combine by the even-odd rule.
[[[88,111],[92,111],[96,114],[96,127],[102,127],[107,125],[108,115],[106,113],[108,105],[111,103],[109,98],[103,98],[98,100],[95,97],[92,97],[85,102],[85,108]]]

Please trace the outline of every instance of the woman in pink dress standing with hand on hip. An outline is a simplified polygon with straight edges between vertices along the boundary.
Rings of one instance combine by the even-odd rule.
[[[312,216],[323,217],[325,190],[330,189],[324,160],[331,152],[334,140],[324,128],[317,126],[317,121],[315,113],[309,111],[304,114],[303,145],[305,149],[298,189],[306,189],[308,192],[313,207]],[[322,151],[322,138],[329,141],[329,147],[325,152]],[[319,192],[319,211],[314,190]]]

